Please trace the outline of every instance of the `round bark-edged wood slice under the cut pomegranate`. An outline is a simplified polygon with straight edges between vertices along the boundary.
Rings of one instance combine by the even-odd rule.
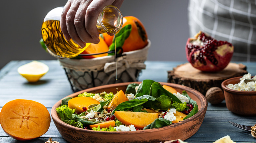
[[[243,64],[229,63],[223,71],[202,72],[190,63],[181,64],[168,71],[168,82],[194,88],[205,95],[211,87],[220,87],[221,83],[231,77],[243,76],[248,73]]]

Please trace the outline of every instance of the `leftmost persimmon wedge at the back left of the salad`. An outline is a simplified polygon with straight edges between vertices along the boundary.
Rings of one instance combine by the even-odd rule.
[[[100,102],[97,101],[96,99],[93,99],[91,97],[85,97],[85,96],[79,96],[79,97],[74,97],[69,100],[68,106],[71,109],[75,109],[75,112],[82,113],[86,110],[83,110],[83,107],[87,107],[91,104],[99,104]]]

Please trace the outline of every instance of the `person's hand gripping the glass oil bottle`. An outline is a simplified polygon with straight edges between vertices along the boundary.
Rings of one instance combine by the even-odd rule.
[[[108,5],[120,8],[122,3],[123,0],[68,0],[60,19],[65,39],[74,40],[80,47],[99,43],[96,23],[101,10]]]

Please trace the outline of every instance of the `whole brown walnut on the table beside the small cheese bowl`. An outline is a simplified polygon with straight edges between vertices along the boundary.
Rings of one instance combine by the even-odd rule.
[[[211,87],[208,89],[205,98],[211,104],[219,104],[225,99],[224,93],[220,87]]]

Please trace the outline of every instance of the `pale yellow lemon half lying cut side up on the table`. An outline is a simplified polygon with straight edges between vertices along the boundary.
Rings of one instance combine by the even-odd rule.
[[[18,68],[18,73],[25,77],[28,82],[37,82],[49,71],[49,67],[38,61],[32,61]]]

